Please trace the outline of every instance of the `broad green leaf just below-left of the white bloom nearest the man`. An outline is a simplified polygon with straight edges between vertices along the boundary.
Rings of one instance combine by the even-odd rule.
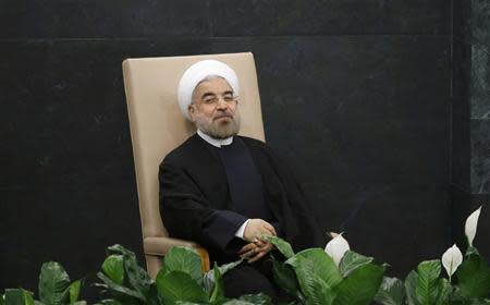
[[[299,286],[306,296],[314,293],[311,288],[317,285],[317,283],[313,283],[315,277],[320,278],[330,288],[342,281],[342,274],[332,258],[322,248],[302,251],[287,259],[285,264],[293,267]]]

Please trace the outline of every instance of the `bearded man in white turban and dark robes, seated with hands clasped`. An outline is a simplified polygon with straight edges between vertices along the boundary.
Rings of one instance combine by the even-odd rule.
[[[193,64],[179,84],[179,103],[197,133],[160,164],[160,210],[173,237],[194,241],[211,261],[248,263],[224,277],[225,295],[265,292],[277,297],[262,259],[272,246],[262,234],[295,251],[320,245],[318,227],[287,167],[262,142],[237,136],[238,78],[226,64]]]

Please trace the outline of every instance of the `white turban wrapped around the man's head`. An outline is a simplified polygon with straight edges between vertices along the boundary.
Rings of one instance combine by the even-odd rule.
[[[217,75],[226,80],[236,95],[240,91],[238,77],[235,71],[231,69],[228,64],[222,63],[217,60],[203,60],[191,65],[182,75],[179,82],[179,106],[181,107],[182,114],[184,114],[187,120],[188,117],[188,106],[193,101],[193,91],[204,78],[210,75]]]

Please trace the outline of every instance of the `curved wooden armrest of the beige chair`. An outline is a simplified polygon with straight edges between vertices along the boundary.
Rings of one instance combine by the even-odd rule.
[[[206,248],[199,246],[196,243],[170,237],[146,237],[143,241],[145,255],[164,256],[169,252],[169,249],[174,246],[188,246],[195,248],[200,256],[203,271],[209,271],[209,254]]]

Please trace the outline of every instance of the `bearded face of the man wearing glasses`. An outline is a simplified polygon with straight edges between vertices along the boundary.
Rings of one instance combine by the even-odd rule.
[[[196,127],[211,137],[226,138],[238,133],[237,101],[224,78],[201,82],[194,90],[188,113]]]

